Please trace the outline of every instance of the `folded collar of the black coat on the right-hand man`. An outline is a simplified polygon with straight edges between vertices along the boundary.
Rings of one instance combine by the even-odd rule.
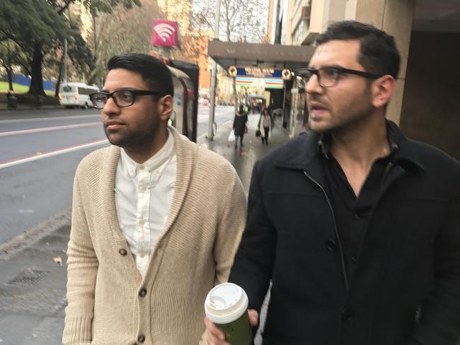
[[[394,122],[386,120],[386,127],[391,132],[392,149],[394,149],[395,163],[403,168],[412,166],[417,170],[425,170],[418,152],[410,140],[404,136]],[[297,139],[289,141],[278,151],[274,164],[280,168],[304,170],[316,175],[322,169],[321,165],[321,134],[308,131]],[[406,170],[406,169],[405,169]]]

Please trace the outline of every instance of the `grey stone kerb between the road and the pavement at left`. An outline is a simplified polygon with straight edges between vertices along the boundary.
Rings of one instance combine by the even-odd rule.
[[[16,253],[23,250],[25,247],[38,242],[46,235],[54,233],[64,226],[70,226],[71,220],[71,208],[65,209],[64,211],[51,216],[46,221],[33,226],[20,233],[11,240],[8,240],[0,245],[0,259],[8,259]]]

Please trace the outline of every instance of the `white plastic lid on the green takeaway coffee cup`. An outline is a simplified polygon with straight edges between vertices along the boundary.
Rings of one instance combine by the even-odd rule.
[[[205,313],[209,320],[226,324],[238,320],[248,310],[248,296],[234,283],[214,286],[206,296]]]

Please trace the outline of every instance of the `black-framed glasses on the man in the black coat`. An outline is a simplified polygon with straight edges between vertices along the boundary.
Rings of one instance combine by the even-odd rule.
[[[318,78],[318,84],[323,88],[330,88],[335,86],[340,76],[343,74],[355,74],[355,76],[362,76],[367,79],[376,79],[384,76],[384,74],[374,74],[365,71],[357,71],[356,69],[345,69],[339,66],[324,66],[321,69],[297,69],[294,71],[295,75],[298,76],[298,86],[299,88],[304,89],[306,83],[309,82],[310,78],[316,74]]]

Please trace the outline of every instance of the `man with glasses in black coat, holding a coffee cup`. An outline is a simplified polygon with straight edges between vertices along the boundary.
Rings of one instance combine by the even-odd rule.
[[[264,345],[454,345],[460,164],[385,119],[393,37],[345,21],[317,42],[296,74],[311,131],[255,164],[230,281],[253,325],[272,282]]]

